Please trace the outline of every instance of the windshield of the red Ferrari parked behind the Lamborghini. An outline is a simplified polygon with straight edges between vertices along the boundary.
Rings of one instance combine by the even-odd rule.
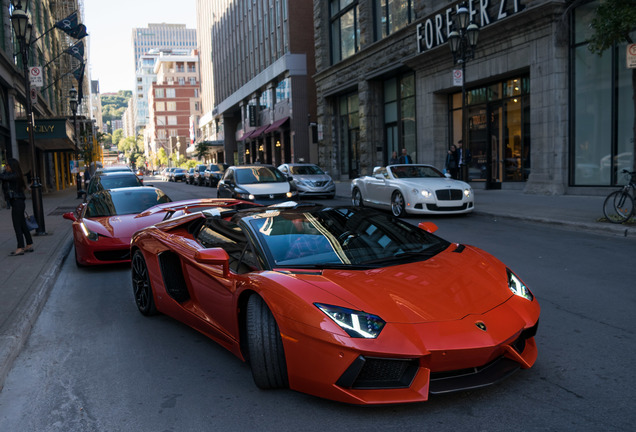
[[[88,201],[84,217],[137,214],[154,205],[171,201],[168,195],[154,188],[103,191],[93,195]]]

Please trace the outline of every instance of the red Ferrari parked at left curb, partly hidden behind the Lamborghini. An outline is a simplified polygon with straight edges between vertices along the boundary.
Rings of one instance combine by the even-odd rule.
[[[96,192],[63,217],[73,221],[75,262],[83,267],[130,262],[130,238],[142,228],[188,212],[240,203],[221,199],[173,202],[160,189],[128,187]]]

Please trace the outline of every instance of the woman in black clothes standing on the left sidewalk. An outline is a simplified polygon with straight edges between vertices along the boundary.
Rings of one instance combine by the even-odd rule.
[[[11,202],[11,220],[15,231],[18,247],[9,256],[24,255],[25,252],[33,252],[33,239],[24,218],[26,200],[24,174],[20,168],[20,162],[9,159],[5,171],[0,174],[0,179],[8,183],[9,201]],[[26,247],[25,247],[26,241]]]

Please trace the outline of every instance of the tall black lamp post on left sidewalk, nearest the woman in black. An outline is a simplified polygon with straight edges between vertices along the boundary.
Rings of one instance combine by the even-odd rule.
[[[37,157],[35,153],[35,137],[33,132],[33,106],[31,102],[31,83],[29,81],[29,45],[31,43],[32,26],[29,22],[29,15],[22,10],[22,2],[11,14],[11,24],[13,31],[20,45],[20,55],[22,57],[22,68],[24,71],[24,96],[26,99],[27,129],[29,133],[29,144],[31,146],[31,197],[33,200],[33,214],[38,221],[36,235],[45,235],[44,208],[42,206],[42,185],[38,176]]]

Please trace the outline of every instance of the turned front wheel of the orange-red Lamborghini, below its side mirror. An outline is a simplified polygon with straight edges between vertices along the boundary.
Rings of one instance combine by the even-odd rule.
[[[247,302],[247,346],[254,383],[261,389],[288,387],[283,341],[276,320],[263,299]]]

